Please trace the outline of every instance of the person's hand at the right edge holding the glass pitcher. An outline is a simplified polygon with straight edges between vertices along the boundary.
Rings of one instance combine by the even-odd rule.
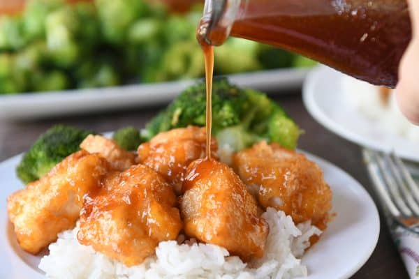
[[[407,119],[419,125],[419,1],[408,1],[413,37],[400,63],[396,98]]]

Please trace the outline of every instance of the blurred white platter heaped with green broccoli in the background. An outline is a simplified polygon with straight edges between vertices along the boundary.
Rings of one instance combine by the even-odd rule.
[[[201,0],[13,3],[0,0],[2,119],[161,105],[205,76]],[[316,64],[240,38],[217,47],[214,63],[214,75],[275,93],[299,89]]]

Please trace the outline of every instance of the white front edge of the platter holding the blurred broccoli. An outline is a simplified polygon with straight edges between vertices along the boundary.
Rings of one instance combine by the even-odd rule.
[[[309,70],[284,68],[228,76],[239,86],[279,93],[300,88]],[[34,119],[46,116],[101,112],[168,103],[196,81],[135,84],[99,89],[0,95],[0,119]]]

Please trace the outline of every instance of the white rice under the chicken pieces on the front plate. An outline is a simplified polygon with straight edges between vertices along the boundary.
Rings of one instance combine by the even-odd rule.
[[[295,225],[290,216],[269,208],[263,218],[270,226],[263,259],[245,264],[239,257],[212,244],[187,241],[163,241],[156,255],[138,266],[124,264],[83,246],[76,238],[78,227],[61,232],[57,242],[49,246],[50,255],[41,259],[39,268],[47,278],[60,279],[142,279],[142,278],[294,278],[307,276],[301,264],[310,236],[321,231],[309,223]],[[253,267],[253,268],[251,268]]]

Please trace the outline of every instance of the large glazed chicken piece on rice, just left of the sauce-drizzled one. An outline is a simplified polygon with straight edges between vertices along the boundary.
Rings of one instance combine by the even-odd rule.
[[[133,266],[153,255],[160,241],[182,229],[176,196],[166,180],[145,165],[110,174],[96,197],[85,199],[80,243]]]

